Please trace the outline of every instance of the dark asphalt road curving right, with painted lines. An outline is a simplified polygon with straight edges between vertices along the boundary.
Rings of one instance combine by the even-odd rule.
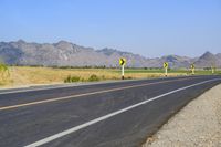
[[[221,76],[0,91],[0,147],[137,147]]]

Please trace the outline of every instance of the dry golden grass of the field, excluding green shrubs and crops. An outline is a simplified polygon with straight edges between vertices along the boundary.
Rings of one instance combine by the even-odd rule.
[[[120,72],[110,69],[52,69],[52,67],[30,67],[10,66],[10,77],[0,81],[2,87],[28,86],[35,84],[57,84],[63,83],[69,75],[81,76],[82,81],[87,81],[92,74],[101,80],[119,80]],[[182,73],[170,73],[168,76],[185,75]],[[164,76],[164,73],[126,73],[126,78],[149,78]]]

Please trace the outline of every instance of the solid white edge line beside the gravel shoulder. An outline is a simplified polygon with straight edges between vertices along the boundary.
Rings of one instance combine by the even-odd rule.
[[[82,129],[82,128],[88,127],[88,126],[91,126],[91,125],[93,125],[93,124],[96,124],[96,123],[98,123],[98,122],[105,120],[105,119],[107,119],[107,118],[109,118],[109,117],[113,117],[113,116],[115,116],[115,115],[122,114],[122,113],[124,113],[124,112],[127,112],[127,111],[133,109],[133,108],[135,108],[135,107],[138,107],[138,106],[140,106],[140,105],[147,104],[147,103],[149,103],[149,102],[156,101],[156,99],[161,98],[161,97],[164,97],[164,96],[167,96],[167,95],[173,94],[173,93],[176,93],[176,92],[183,91],[183,90],[187,90],[187,88],[197,86],[197,85],[202,85],[202,84],[204,84],[204,83],[209,83],[209,82],[212,82],[212,81],[219,81],[219,80],[221,80],[221,78],[208,80],[208,81],[203,81],[203,82],[200,82],[200,83],[196,83],[196,84],[192,84],[192,85],[189,85],[189,86],[185,86],[185,87],[181,87],[181,88],[173,90],[173,91],[171,91],[171,92],[168,92],[168,93],[158,95],[158,96],[152,97],[152,98],[149,98],[149,99],[147,99],[147,101],[144,101],[144,102],[134,104],[134,105],[128,106],[128,107],[125,107],[125,108],[123,108],[123,109],[119,109],[119,111],[113,112],[113,113],[110,113],[110,114],[104,115],[104,116],[102,116],[102,117],[95,118],[95,119],[93,119],[93,120],[86,122],[86,123],[84,123],[84,124],[82,124],[82,125],[72,127],[72,128],[70,128],[70,129],[66,129],[66,130],[61,132],[61,133],[59,133],[59,134],[52,135],[52,136],[50,136],[50,137],[46,137],[46,138],[41,139],[41,140],[39,140],[39,141],[35,141],[35,143],[33,143],[33,144],[27,145],[27,146],[24,146],[24,147],[38,147],[38,146],[44,145],[44,144],[50,143],[50,141],[54,140],[54,139],[57,139],[57,138],[63,137],[63,136],[65,136],[65,135],[72,134],[72,133],[77,132],[77,130],[80,130],[80,129]]]

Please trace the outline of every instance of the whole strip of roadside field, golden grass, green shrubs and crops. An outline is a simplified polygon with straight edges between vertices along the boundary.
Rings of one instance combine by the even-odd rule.
[[[7,66],[0,64],[0,74],[1,87],[120,80],[120,69],[106,67]],[[196,75],[209,74],[211,74],[210,69],[196,70]],[[217,70],[215,74],[221,75],[221,70]],[[187,69],[168,70],[168,76],[181,75],[191,75],[191,72]],[[160,76],[165,76],[162,69],[125,69],[126,80]]]

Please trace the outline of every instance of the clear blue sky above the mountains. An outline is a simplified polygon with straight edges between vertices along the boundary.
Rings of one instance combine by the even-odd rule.
[[[0,0],[0,41],[114,48],[147,57],[221,52],[221,0]]]

